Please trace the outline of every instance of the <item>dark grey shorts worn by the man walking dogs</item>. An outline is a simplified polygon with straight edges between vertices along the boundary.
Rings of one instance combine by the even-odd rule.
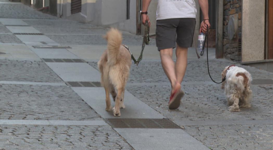
[[[161,49],[192,46],[195,18],[172,18],[156,20],[156,46]]]

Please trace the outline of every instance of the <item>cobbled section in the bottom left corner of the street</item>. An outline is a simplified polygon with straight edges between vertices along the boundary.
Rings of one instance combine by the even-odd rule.
[[[133,149],[109,126],[0,125],[1,149]]]

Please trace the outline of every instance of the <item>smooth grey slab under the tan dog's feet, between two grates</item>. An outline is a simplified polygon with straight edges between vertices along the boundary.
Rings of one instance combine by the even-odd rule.
[[[113,111],[105,111],[106,104],[104,88],[72,87],[72,89],[103,118],[116,118],[113,116]],[[114,101],[111,100],[112,107],[114,107],[114,104]],[[121,116],[118,118],[164,118],[164,116],[141,102],[127,91],[125,91],[124,94],[124,105],[126,108],[120,109]]]

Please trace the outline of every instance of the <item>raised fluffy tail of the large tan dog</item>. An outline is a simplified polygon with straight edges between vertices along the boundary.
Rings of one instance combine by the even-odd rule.
[[[116,64],[119,59],[122,34],[117,29],[111,28],[104,37],[107,42],[107,56],[110,65]]]

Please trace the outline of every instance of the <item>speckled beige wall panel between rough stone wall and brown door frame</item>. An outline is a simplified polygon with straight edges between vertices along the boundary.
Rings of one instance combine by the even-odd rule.
[[[264,60],[265,1],[242,4],[242,62]]]

